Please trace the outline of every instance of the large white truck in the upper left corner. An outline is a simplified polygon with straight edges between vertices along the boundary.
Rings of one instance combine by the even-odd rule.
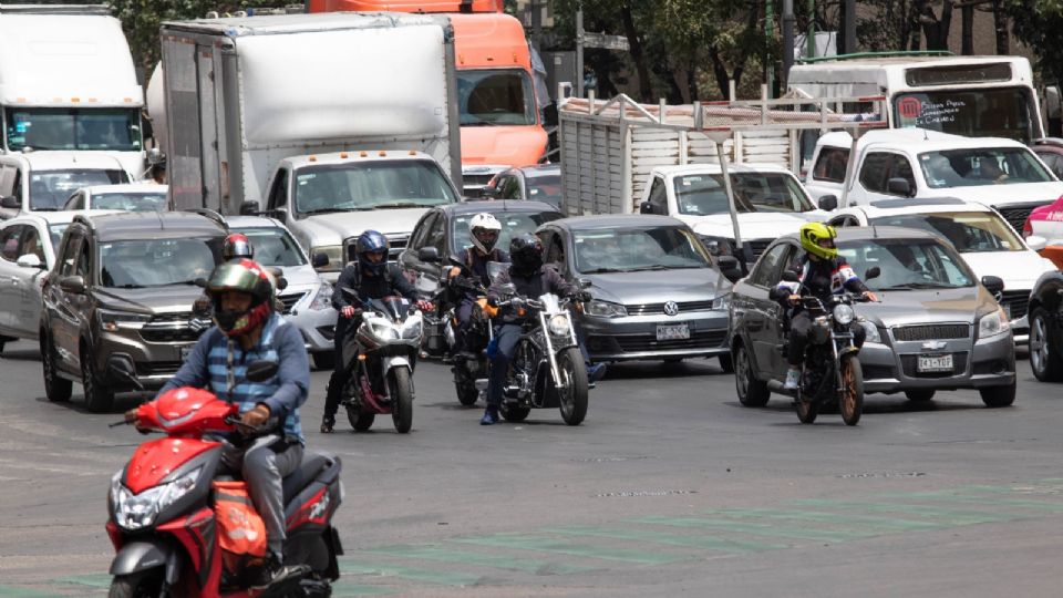
[[[105,152],[144,174],[144,92],[110,10],[0,4],[3,153]]]

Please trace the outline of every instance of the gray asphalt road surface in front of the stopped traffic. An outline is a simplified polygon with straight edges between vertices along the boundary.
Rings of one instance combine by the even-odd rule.
[[[111,475],[142,440],[43,398],[37,351],[0,359],[0,596],[102,596]],[[615,367],[587,421],[478,425],[447,369],[414,430],[317,431],[343,460],[337,596],[1059,596],[1061,386],[1020,363],[1015,405],[871,395],[857,427],[737,404],[715,361]]]

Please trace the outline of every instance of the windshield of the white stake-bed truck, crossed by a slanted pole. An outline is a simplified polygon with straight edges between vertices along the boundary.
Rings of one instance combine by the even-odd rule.
[[[674,187],[680,214],[709,216],[730,212],[722,174],[677,176]],[[731,173],[731,187],[740,213],[815,209],[801,183],[785,173]]]

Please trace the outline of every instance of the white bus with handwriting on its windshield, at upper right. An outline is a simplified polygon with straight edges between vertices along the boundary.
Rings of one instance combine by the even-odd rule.
[[[1033,72],[1022,56],[833,56],[795,64],[788,87],[822,99],[885,95],[894,128],[919,126],[1026,144],[1044,136]]]

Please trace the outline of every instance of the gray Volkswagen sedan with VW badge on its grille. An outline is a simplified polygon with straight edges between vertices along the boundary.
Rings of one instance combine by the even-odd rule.
[[[578,315],[592,361],[719,357],[730,371],[731,282],[694,233],[667,216],[563,218],[539,227],[545,261],[589,283]]]

